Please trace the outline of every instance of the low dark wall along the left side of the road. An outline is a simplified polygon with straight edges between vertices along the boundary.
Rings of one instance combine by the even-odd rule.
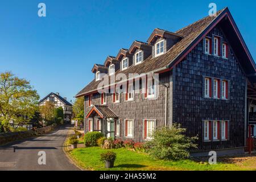
[[[19,131],[10,133],[0,133],[0,146],[16,140],[35,136],[35,131]]]

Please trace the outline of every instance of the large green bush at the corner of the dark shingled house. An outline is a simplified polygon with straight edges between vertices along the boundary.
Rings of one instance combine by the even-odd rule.
[[[193,144],[197,137],[185,137],[186,129],[180,125],[163,127],[153,132],[152,140],[146,143],[146,151],[157,159],[179,160],[189,157],[189,148],[197,148]]]

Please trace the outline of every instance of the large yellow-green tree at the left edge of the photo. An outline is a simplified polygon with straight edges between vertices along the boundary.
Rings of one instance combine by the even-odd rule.
[[[11,72],[0,74],[0,127],[3,132],[24,124],[38,111],[39,95],[30,82]]]

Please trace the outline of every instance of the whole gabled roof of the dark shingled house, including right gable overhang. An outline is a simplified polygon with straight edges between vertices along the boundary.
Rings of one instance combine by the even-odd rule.
[[[256,67],[253,58],[236,26],[232,15],[228,8],[222,9],[217,12],[217,16],[207,16],[198,20],[195,23],[189,24],[189,26],[176,31],[175,34],[182,36],[183,38],[177,42],[172,48],[161,56],[152,58],[149,56],[142,64],[132,65],[124,71],[118,70],[118,73],[124,73],[126,76],[129,73],[149,73],[149,72],[163,72],[164,70],[171,70],[175,65],[188,55],[189,52],[208,34],[213,27],[218,23],[221,26],[227,26],[228,32],[224,32],[227,38],[234,36],[236,39],[230,44],[233,46],[234,52],[236,52],[238,60],[241,60],[241,65],[245,69],[247,74],[254,74],[256,77]],[[256,81],[256,78],[255,78]],[[93,80],[84,89],[77,93],[76,97],[81,97],[89,93],[97,92],[97,85],[100,81]]]

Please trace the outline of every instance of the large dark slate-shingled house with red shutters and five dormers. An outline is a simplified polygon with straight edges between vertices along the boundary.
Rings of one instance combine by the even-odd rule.
[[[243,152],[255,68],[228,8],[176,32],[156,28],[147,43],[94,65],[95,79],[76,95],[85,98],[85,132],[143,142],[152,130],[180,123],[188,136],[199,135],[197,152]],[[98,93],[100,73],[159,73],[158,97],[149,97],[148,82],[146,94],[134,94],[133,85],[128,94]]]

